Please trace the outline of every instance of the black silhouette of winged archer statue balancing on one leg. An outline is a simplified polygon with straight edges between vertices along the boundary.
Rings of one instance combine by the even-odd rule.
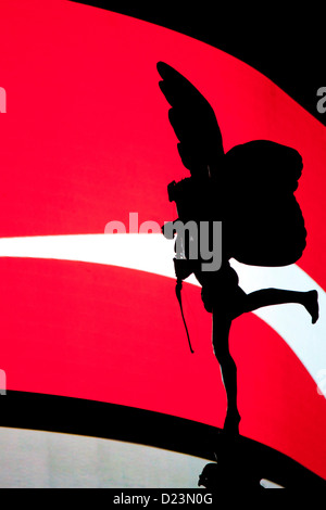
[[[202,286],[205,309],[213,315],[213,347],[227,395],[224,432],[239,433],[237,367],[230,356],[231,321],[263,306],[298,303],[318,319],[317,292],[264,289],[246,294],[230,258],[254,266],[296,263],[305,247],[306,232],[294,197],[302,158],[291,148],[255,140],[224,153],[220,127],[208,101],[178,72],[158,63],[160,88],[172,109],[168,118],[179,140],[178,152],[191,177],[168,184],[178,219],[222,221],[222,266],[203,271],[202,258],[189,257],[191,242],[185,235],[184,253],[174,259],[178,297],[181,281],[192,272]],[[164,230],[163,230],[164,233]],[[179,299],[180,301],[180,299]],[[190,346],[191,348],[191,346]]]

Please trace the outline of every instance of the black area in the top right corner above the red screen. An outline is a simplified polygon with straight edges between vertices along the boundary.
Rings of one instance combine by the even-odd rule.
[[[324,29],[313,4],[155,3],[71,0],[143,20],[206,42],[261,72],[326,125],[317,90],[326,85]]]

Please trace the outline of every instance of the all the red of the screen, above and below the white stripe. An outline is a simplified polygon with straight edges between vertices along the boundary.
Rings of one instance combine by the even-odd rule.
[[[297,196],[309,235],[299,265],[326,288],[325,127],[294,101],[244,63],[127,16],[63,0],[3,0],[0,15],[1,237],[102,233],[129,212],[140,222],[174,218],[166,184],[187,174],[158,86],[164,61],[210,101],[225,150],[269,139],[301,153]],[[171,280],[45,260],[2,259],[1,268],[9,390],[223,424],[198,289],[187,288],[189,329],[202,329],[191,356]],[[235,322],[231,348],[240,432],[325,476],[325,400],[302,365],[252,316]]]

